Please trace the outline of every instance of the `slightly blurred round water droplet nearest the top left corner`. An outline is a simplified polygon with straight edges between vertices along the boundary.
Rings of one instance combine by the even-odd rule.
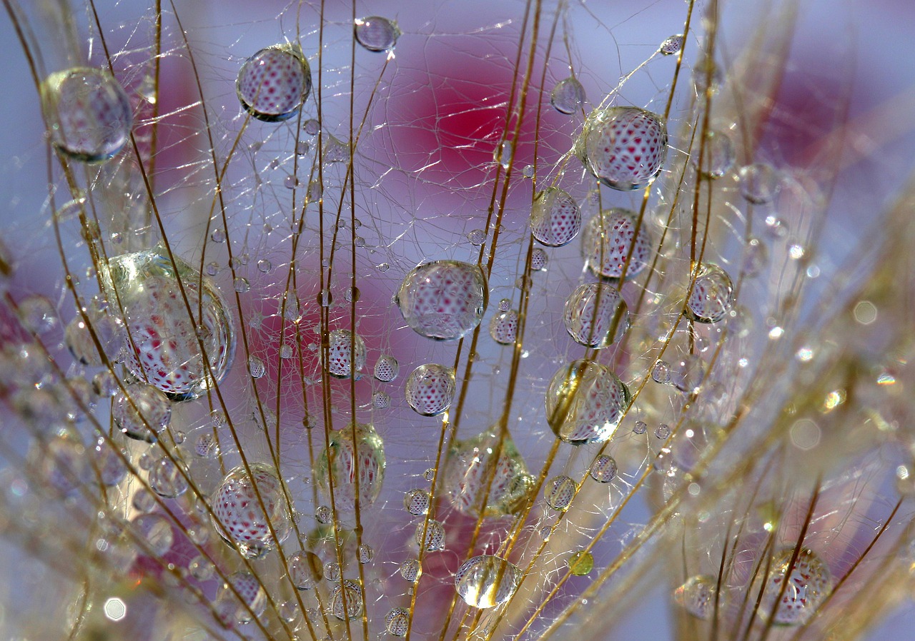
[[[52,73],[41,84],[41,106],[51,142],[75,160],[97,163],[129,140],[134,112],[124,88],[101,69]]]

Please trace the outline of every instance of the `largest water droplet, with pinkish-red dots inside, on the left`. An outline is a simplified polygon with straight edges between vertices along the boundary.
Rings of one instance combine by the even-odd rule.
[[[124,310],[131,339],[124,364],[137,378],[177,401],[225,378],[235,330],[210,278],[154,247],[113,258],[103,281]]]

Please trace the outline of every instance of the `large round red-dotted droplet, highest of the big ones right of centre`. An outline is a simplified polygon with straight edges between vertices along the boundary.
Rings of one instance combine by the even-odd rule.
[[[651,184],[667,152],[661,116],[636,107],[609,107],[587,117],[576,155],[598,181],[619,191]]]

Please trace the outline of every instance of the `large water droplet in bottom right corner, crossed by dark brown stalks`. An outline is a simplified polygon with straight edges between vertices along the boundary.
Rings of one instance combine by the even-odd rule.
[[[791,565],[793,548],[782,550],[772,559],[769,577],[766,580],[759,615],[769,617],[775,611],[774,623],[780,625],[804,625],[810,621],[817,608],[833,591],[833,576],[826,564],[812,550],[804,549]],[[791,570],[791,572],[789,572]],[[778,605],[775,600],[786,580],[784,594]]]

